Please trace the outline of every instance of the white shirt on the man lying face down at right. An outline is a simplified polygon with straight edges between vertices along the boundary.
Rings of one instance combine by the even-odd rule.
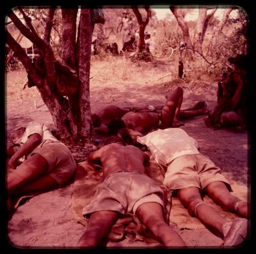
[[[179,128],[157,130],[137,141],[150,149],[159,165],[167,166],[182,155],[200,154],[197,141]]]

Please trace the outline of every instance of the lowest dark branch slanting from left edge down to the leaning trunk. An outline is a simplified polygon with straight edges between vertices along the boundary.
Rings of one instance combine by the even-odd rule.
[[[15,39],[11,36],[11,34],[8,31],[6,31],[6,35],[7,35],[7,44],[13,50],[13,52],[16,53],[16,55],[18,56],[20,61],[22,61],[27,73],[29,73],[29,75],[30,75],[30,78],[33,80],[33,82],[37,86],[41,86],[42,79],[41,79],[40,75],[36,72],[36,70],[35,70],[30,58],[26,54],[25,50],[22,48],[22,46],[20,46],[15,41]]]

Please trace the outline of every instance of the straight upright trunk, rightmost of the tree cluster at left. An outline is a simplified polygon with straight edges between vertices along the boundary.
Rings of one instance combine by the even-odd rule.
[[[91,23],[90,9],[81,9],[79,39],[79,135],[84,139],[93,136],[90,106],[90,65],[91,45],[94,25]]]

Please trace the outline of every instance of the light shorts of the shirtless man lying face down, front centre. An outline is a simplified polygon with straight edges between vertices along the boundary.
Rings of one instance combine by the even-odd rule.
[[[116,211],[135,214],[147,202],[157,202],[162,207],[164,193],[147,175],[139,172],[115,172],[97,185],[90,204],[83,208],[83,216],[97,211]]]

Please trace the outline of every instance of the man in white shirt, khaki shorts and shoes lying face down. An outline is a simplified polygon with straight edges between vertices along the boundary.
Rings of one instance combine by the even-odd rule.
[[[130,137],[129,137],[130,135]],[[146,146],[165,169],[163,184],[174,191],[188,213],[224,236],[224,246],[241,244],[247,237],[249,203],[231,195],[228,180],[208,157],[199,153],[197,141],[179,128],[157,130],[146,136],[130,130],[127,143]],[[166,169],[167,168],[167,169]],[[174,193],[174,194],[175,194]],[[206,193],[223,210],[243,218],[228,221],[201,197]]]

